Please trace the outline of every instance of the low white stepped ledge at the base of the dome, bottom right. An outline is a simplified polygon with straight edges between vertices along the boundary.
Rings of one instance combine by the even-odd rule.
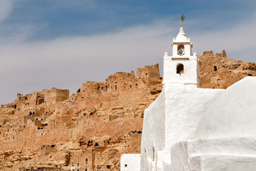
[[[251,170],[256,168],[255,142],[256,138],[181,141],[171,147],[171,170]]]

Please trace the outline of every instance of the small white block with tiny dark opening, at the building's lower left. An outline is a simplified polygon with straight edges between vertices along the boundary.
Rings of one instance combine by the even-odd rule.
[[[140,171],[140,154],[122,154],[121,171]]]

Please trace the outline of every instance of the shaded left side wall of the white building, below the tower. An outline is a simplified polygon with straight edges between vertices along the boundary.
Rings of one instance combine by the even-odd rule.
[[[163,88],[164,90],[164,88]],[[156,153],[165,147],[165,96],[161,93],[144,111],[143,133],[141,138],[140,156],[141,170],[154,167]],[[153,161],[153,148],[155,159]]]

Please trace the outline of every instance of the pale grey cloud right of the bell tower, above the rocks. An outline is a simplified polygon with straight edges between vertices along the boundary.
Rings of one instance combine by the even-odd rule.
[[[203,22],[201,23],[203,24]],[[218,30],[196,31],[193,33],[194,51],[202,53],[207,49],[222,51],[225,49],[229,58],[256,62],[253,49],[256,49],[256,13],[248,17],[247,21],[240,21],[232,26],[225,26]]]

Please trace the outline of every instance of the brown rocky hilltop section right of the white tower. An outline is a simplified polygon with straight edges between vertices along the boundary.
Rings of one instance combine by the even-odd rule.
[[[200,60],[200,86],[227,88],[246,76],[256,76],[256,64],[227,58],[225,51],[205,51]]]

